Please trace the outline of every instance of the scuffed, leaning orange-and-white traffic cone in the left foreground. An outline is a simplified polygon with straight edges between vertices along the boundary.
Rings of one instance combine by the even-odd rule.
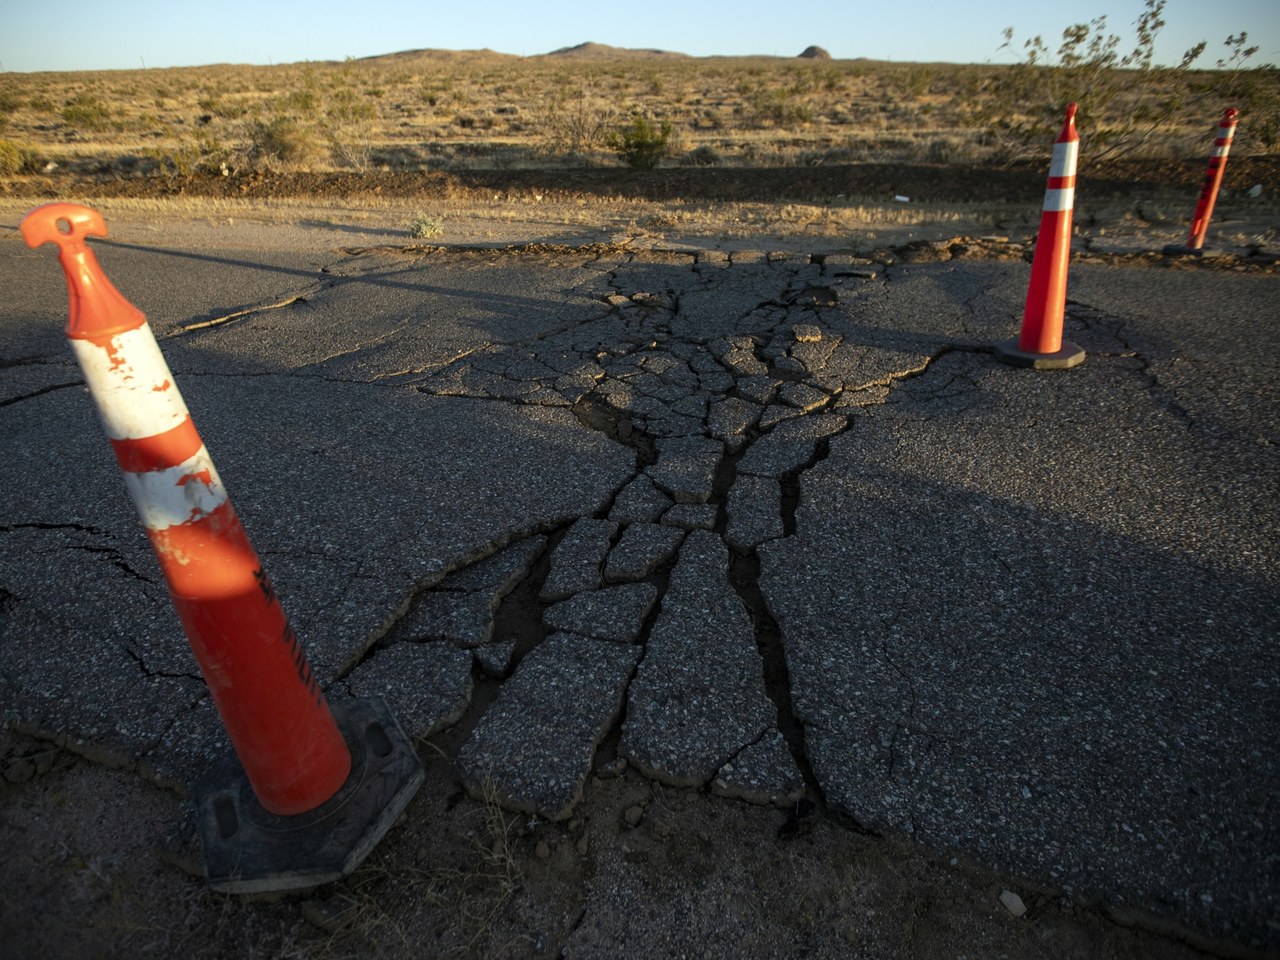
[[[271,841],[264,847],[261,838],[246,829],[247,820],[269,818],[274,829],[287,836],[289,818],[307,813],[308,824],[323,822],[324,817],[312,812],[335,797],[339,805],[357,809],[360,804],[352,804],[351,795],[360,791],[369,773],[362,746],[366,731],[344,736],[339,728],[150,324],[111,285],[88,248],[87,237],[106,236],[101,214],[74,204],[47,204],[23,219],[22,236],[29,247],[46,242],[59,247],[70,297],[68,340],[251,787],[251,792],[211,787],[221,796],[205,812],[212,833],[205,842],[210,881],[221,890],[247,892],[337,879],[348,870],[332,876],[332,864],[316,869],[305,852],[301,863],[289,859],[293,854],[280,863],[279,850]],[[367,704],[356,713],[367,722],[370,709],[378,713]],[[394,731],[385,728],[398,731],[398,724],[381,714],[385,707],[376,723],[392,737]],[[343,717],[351,716],[347,705]],[[403,739],[402,732],[399,736]],[[353,748],[361,750],[356,782]],[[397,799],[392,820],[421,783],[417,758],[412,750],[408,754],[416,780],[410,772],[412,782],[401,783],[408,792]],[[385,803],[379,804],[385,808]],[[375,820],[384,815],[383,809],[372,812]],[[227,870],[211,863],[216,860],[211,844],[230,844],[224,851],[230,858]],[[251,876],[255,870],[257,876]]]

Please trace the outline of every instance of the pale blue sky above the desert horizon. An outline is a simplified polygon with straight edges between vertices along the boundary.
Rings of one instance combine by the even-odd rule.
[[[815,44],[837,59],[1012,63],[1020,56],[998,50],[1005,27],[1056,49],[1064,27],[1105,14],[1128,50],[1142,12],[1142,0],[0,0],[0,69],[279,64],[420,47],[529,56],[585,41],[694,56],[795,56]],[[1165,63],[1207,40],[1198,65],[1212,67],[1242,29],[1261,46],[1251,64],[1280,63],[1280,0],[1169,0],[1165,20],[1156,49]]]

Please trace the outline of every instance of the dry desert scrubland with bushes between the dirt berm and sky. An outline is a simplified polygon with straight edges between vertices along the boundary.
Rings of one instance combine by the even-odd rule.
[[[1044,152],[1069,101],[1082,169],[1280,151],[1280,72],[1245,32],[1158,67],[1164,0],[1052,38],[1006,31],[1004,64],[704,58],[573,49],[408,51],[346,63],[0,74],[0,175],[1010,164]],[[993,37],[996,47],[998,37]],[[1206,69],[1207,68],[1207,69]]]

